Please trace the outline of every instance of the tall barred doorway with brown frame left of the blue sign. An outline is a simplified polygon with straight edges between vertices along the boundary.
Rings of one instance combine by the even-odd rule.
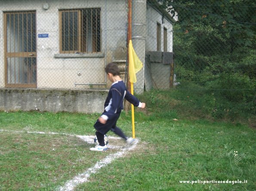
[[[5,86],[37,87],[36,12],[4,13]]]

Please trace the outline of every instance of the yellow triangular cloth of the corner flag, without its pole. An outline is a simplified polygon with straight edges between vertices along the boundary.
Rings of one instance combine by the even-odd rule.
[[[139,60],[136,52],[133,49],[132,40],[129,42],[129,77],[131,83],[136,83],[136,73],[142,69],[142,62]]]

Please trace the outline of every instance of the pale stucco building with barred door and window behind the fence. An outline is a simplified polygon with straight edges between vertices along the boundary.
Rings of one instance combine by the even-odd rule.
[[[144,63],[139,92],[152,88],[157,75],[147,55],[148,62],[170,64],[172,57],[159,52],[173,51],[177,17],[156,0],[132,5],[133,47]],[[127,0],[1,0],[0,88],[107,88],[105,65],[125,70],[127,9]]]

